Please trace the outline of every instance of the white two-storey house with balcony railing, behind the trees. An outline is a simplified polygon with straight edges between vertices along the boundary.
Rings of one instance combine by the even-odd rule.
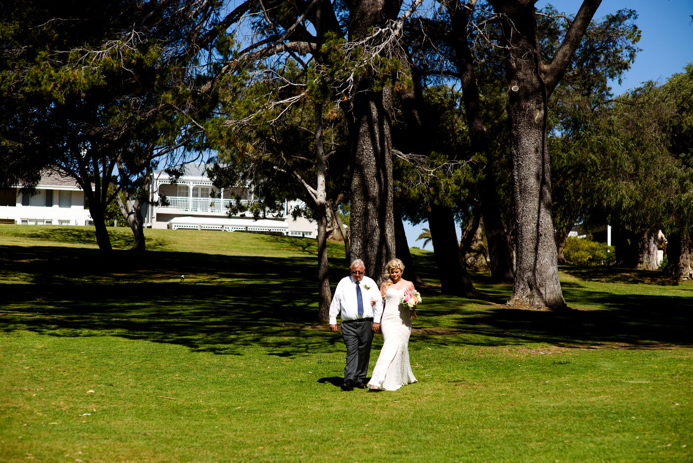
[[[253,220],[252,216],[227,216],[229,204],[238,195],[242,202],[254,200],[247,188],[236,186],[216,189],[207,177],[207,165],[187,164],[185,175],[175,183],[164,171],[158,171],[151,186],[151,200],[166,196],[166,205],[155,205],[146,211],[145,225],[152,228],[211,229],[281,233],[288,236],[317,236],[315,222],[306,218],[294,220],[289,211],[294,202],[284,204],[279,217]],[[212,194],[213,193],[213,194]]]

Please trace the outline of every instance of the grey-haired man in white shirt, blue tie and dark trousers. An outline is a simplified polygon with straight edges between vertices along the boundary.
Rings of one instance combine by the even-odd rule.
[[[371,358],[373,333],[380,329],[383,313],[383,298],[378,285],[366,277],[365,265],[361,259],[351,263],[351,276],[337,283],[335,295],[330,306],[330,329],[337,332],[337,315],[342,314],[342,338],[347,346],[347,365],[344,367],[342,390],[351,391],[354,387],[365,389],[368,362]]]

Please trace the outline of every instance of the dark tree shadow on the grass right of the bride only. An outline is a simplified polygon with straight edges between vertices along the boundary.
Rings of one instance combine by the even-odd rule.
[[[582,308],[559,313],[503,305],[465,307],[464,315],[450,322],[450,334],[461,344],[480,346],[541,342],[585,349],[693,347],[693,304],[689,297],[580,294]],[[453,337],[430,336],[428,333],[439,330],[426,329],[425,324],[421,328],[427,342],[441,347]]]

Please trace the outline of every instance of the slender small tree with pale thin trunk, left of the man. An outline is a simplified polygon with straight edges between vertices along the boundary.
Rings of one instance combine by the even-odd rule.
[[[283,202],[296,198],[308,205],[305,210],[295,207],[292,214],[317,222],[317,322],[326,324],[332,299],[328,215],[343,229],[337,208],[349,196],[344,124],[340,113],[321,96],[321,88],[308,78],[315,76],[315,69],[301,69],[297,62],[288,61],[284,69],[270,74],[270,78],[256,79],[254,73],[236,73],[220,80],[219,116],[207,124],[207,139],[218,150],[218,163],[209,173],[217,186],[245,185],[258,198],[251,204],[236,201],[229,214],[249,212],[258,218],[280,213]],[[299,98],[286,106],[256,98],[267,94],[279,101]],[[344,241],[348,256],[349,241],[346,237]]]

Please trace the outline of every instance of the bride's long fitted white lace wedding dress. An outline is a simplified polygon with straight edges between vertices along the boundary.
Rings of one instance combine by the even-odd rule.
[[[368,386],[374,390],[396,391],[402,385],[416,383],[409,364],[409,335],[412,333],[411,313],[407,306],[399,304],[404,290],[389,288],[385,292],[385,310],[380,331],[383,333],[383,349]]]

